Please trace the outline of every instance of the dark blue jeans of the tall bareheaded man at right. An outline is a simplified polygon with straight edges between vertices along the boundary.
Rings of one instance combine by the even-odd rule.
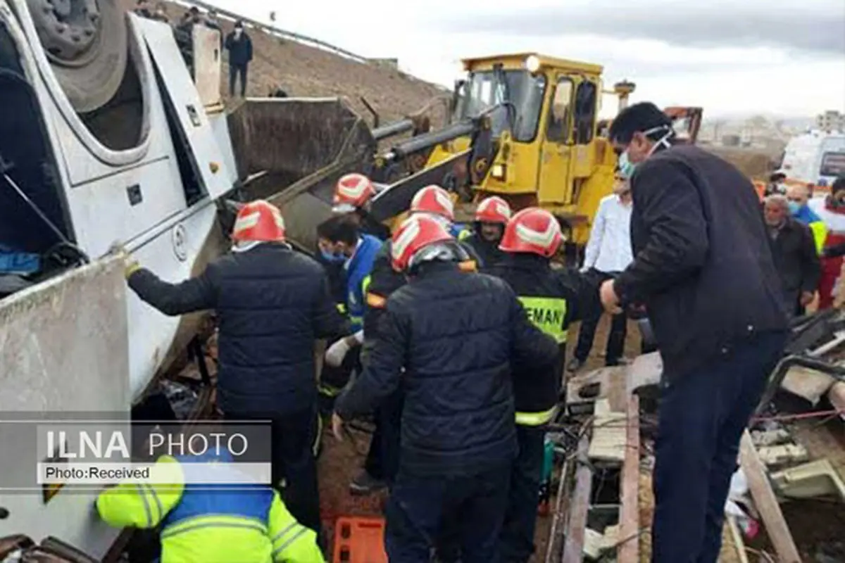
[[[695,371],[664,376],[652,563],[716,563],[739,439],[785,343],[786,333],[760,333]]]

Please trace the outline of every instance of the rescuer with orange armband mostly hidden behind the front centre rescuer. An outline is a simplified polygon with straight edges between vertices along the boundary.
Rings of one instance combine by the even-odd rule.
[[[412,199],[408,214],[426,214],[455,231],[452,219],[455,211],[449,192],[439,186],[427,186]],[[470,256],[461,268],[476,270],[477,257],[472,247],[462,245]],[[362,357],[366,360],[379,330],[379,316],[384,311],[388,297],[405,284],[405,276],[396,272],[390,263],[391,241],[386,241],[373,263],[373,271],[367,284],[367,310],[364,313],[364,345]],[[365,495],[390,485],[399,468],[399,435],[401,425],[402,394],[397,391],[379,404],[375,413],[375,430],[364,462],[363,471],[352,479],[353,494]]]

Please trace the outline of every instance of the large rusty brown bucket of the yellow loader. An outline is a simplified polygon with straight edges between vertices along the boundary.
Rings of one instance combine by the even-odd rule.
[[[338,98],[249,99],[228,116],[237,176],[264,174],[244,188],[278,205],[288,238],[316,247],[315,228],[331,214],[337,179],[362,171],[376,141],[366,122]]]

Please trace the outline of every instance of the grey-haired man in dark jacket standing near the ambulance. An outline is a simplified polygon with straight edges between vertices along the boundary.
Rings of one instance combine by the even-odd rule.
[[[783,283],[783,299],[793,315],[804,314],[815,296],[821,262],[810,227],[793,219],[785,196],[771,195],[763,204],[771,251]]]

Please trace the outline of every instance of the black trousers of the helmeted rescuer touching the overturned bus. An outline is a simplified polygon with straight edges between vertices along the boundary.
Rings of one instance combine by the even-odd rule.
[[[297,522],[319,534],[319,488],[313,452],[318,426],[316,408],[312,406],[297,413],[271,416],[226,413],[226,420],[271,421],[272,485],[279,490]],[[282,479],[285,479],[284,490],[281,489]]]

